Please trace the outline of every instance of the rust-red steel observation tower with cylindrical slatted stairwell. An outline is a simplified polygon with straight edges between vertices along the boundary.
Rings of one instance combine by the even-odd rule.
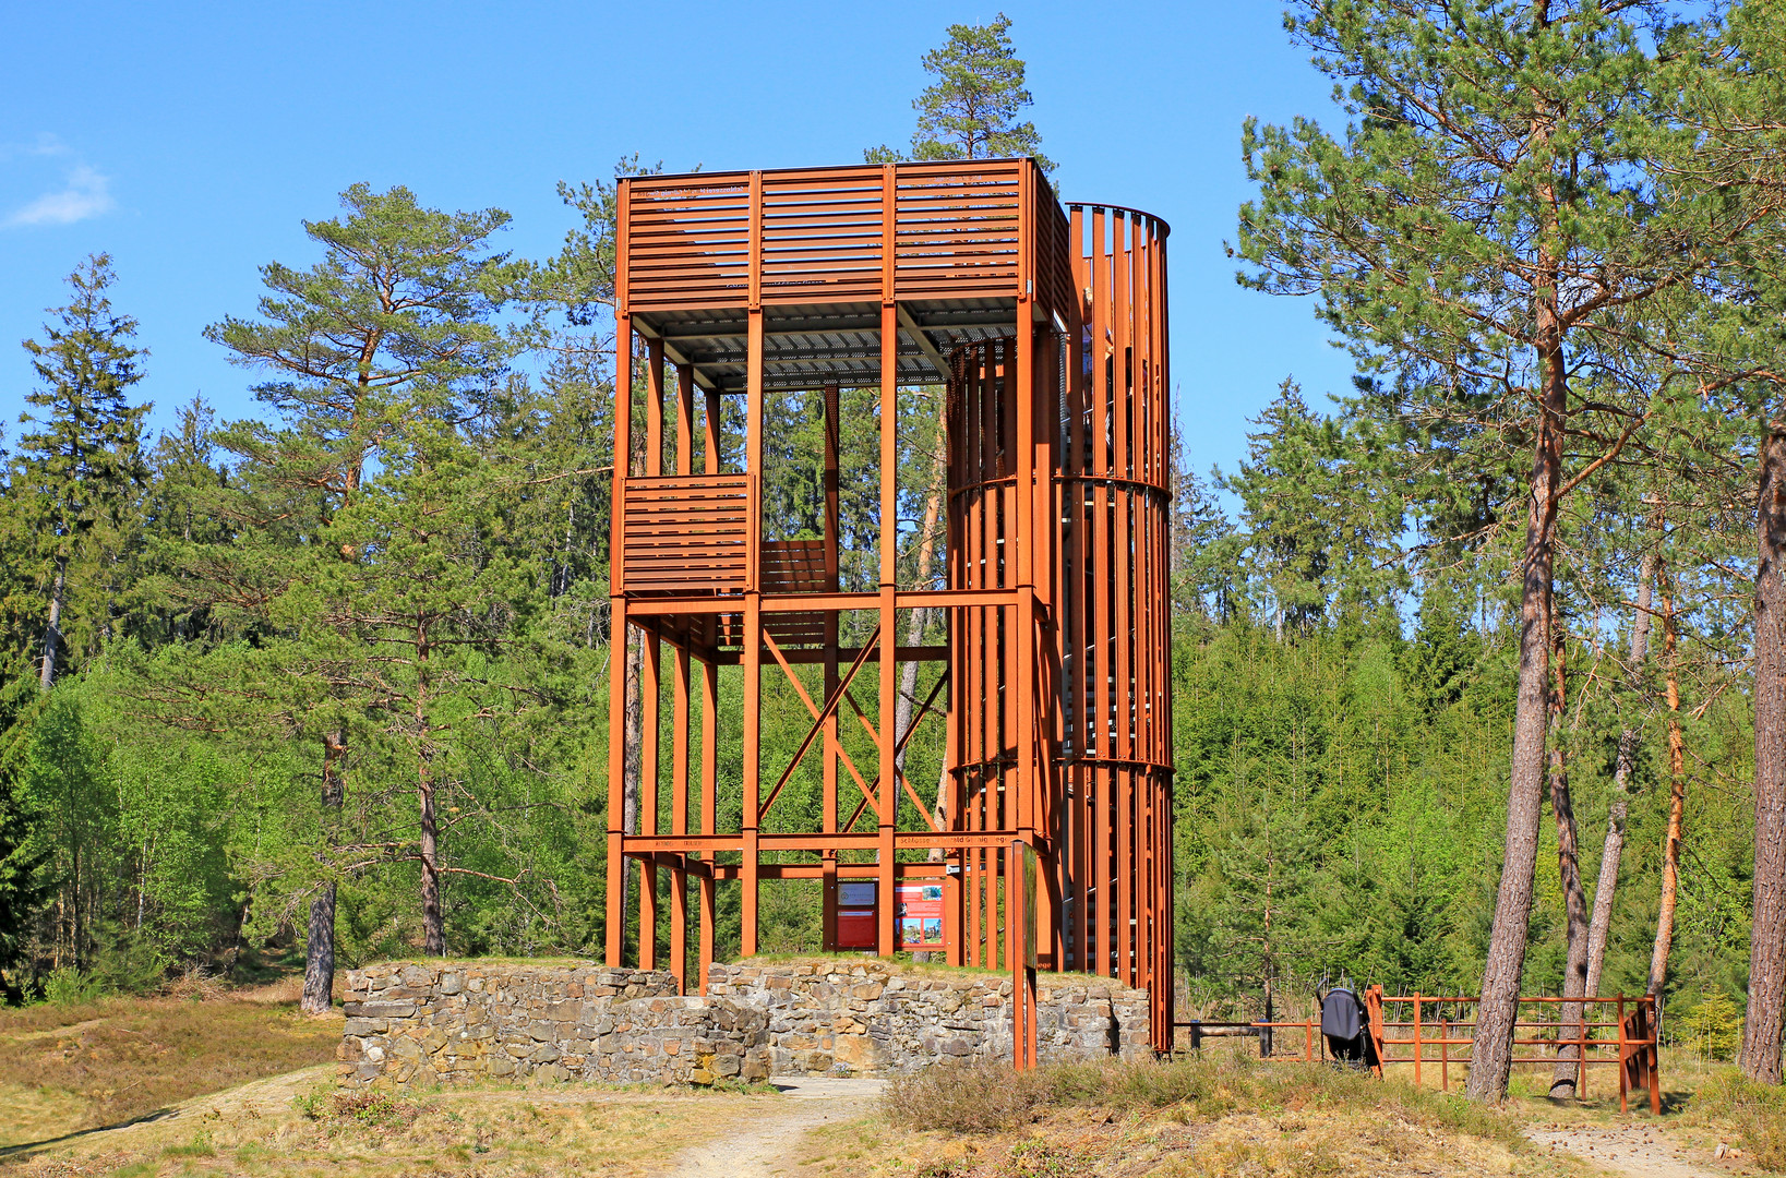
[[[641,637],[643,718],[629,748],[616,643],[607,962],[632,957],[636,903],[638,964],[693,989],[693,932],[705,985],[722,889],[754,955],[763,887],[818,880],[827,950],[1011,969],[1018,1066],[1034,969],[1147,987],[1164,1049],[1166,225],[1063,209],[1031,159],[627,177],[618,202],[613,634]],[[893,523],[900,391],[925,386],[943,585],[900,582]],[[845,421],[839,391],[864,389]],[[823,539],[764,535],[764,411],[793,396],[823,405]],[[879,436],[868,550],[841,527],[845,425]],[[902,641],[918,609],[947,619],[932,644]],[[773,676],[791,751],[763,741]],[[923,726],[927,778],[904,764]],[[797,778],[818,803],[789,828]]]

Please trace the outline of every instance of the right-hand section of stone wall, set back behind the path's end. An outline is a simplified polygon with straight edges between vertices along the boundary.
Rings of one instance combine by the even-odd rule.
[[[1011,978],[868,957],[714,964],[707,992],[768,1012],[770,1073],[889,1076],[1011,1058]],[[1043,1062],[1152,1053],[1147,991],[1038,975]]]

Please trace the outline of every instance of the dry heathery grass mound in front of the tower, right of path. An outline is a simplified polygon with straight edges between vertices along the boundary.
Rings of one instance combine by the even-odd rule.
[[[857,1173],[913,1178],[1554,1174],[1507,1114],[1318,1066],[1209,1053],[1166,1064],[931,1069],[889,1085],[897,1148]],[[861,1135],[859,1130],[854,1132]],[[814,1176],[873,1155],[850,1130]],[[850,1158],[850,1151],[855,1158]]]

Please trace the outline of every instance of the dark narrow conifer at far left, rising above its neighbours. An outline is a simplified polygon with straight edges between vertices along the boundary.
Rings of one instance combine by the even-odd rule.
[[[20,418],[38,428],[20,436],[11,493],[46,566],[43,691],[70,653],[70,594],[96,587],[75,582],[104,577],[127,543],[127,521],[148,478],[141,428],[150,407],[125,396],[143,378],[139,361],[148,353],[132,343],[136,319],[113,311],[113,282],[111,257],[89,255],[68,275],[73,300],[50,311],[59,325],[45,325],[41,341],[25,341],[41,382],[25,402],[43,412]],[[104,605],[95,612],[102,616],[88,623],[98,632],[109,618]]]

